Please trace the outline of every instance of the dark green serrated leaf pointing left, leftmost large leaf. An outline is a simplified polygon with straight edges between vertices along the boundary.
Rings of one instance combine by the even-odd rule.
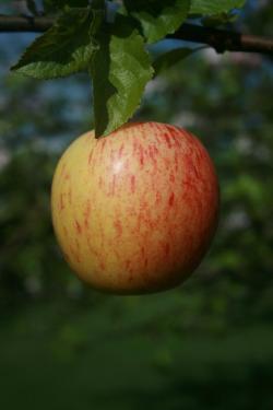
[[[97,45],[91,27],[99,14],[70,9],[25,51],[12,70],[35,79],[55,79],[86,70]]]

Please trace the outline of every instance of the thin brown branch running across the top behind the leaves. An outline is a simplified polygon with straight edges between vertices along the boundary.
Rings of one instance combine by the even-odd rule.
[[[0,15],[0,33],[45,32],[54,24],[51,17],[23,17]],[[169,38],[207,44],[218,52],[245,51],[273,56],[273,38],[237,32],[183,24]]]

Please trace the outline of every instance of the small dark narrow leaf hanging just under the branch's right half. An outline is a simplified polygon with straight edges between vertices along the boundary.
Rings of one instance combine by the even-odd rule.
[[[197,51],[197,49],[193,48],[176,48],[170,51],[164,52],[159,57],[157,57],[154,62],[154,77],[161,74],[163,71],[171,68],[186,57],[190,56]]]

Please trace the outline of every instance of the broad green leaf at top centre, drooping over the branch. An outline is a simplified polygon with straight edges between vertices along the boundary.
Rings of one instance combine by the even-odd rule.
[[[147,43],[175,33],[187,19],[190,0],[124,0],[127,12],[136,19]]]

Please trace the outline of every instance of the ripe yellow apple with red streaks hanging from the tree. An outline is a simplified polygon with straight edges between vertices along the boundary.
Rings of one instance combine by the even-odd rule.
[[[218,184],[190,132],[132,122],[78,138],[52,181],[54,229],[70,267],[116,294],[164,291],[198,267],[215,233]]]

